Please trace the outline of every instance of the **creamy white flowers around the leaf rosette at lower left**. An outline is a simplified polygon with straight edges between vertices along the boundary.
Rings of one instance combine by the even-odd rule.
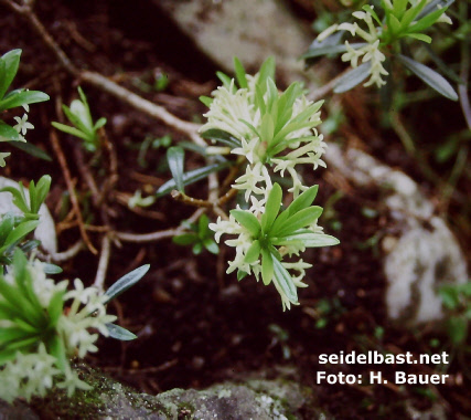
[[[82,281],[75,280],[75,288],[66,292],[67,281],[55,283],[44,274],[43,263],[40,261],[28,262],[28,271],[33,280],[33,288],[38,301],[45,312],[49,311],[52,298],[62,292],[63,302],[72,301],[69,308],[63,311],[55,326],[54,334],[58,337],[67,356],[63,369],[58,369],[58,360],[47,353],[45,344],[38,337],[35,351],[17,351],[13,359],[0,367],[0,398],[11,402],[22,397],[29,400],[34,396],[44,396],[57,379],[57,387],[67,389],[71,396],[75,389],[89,389],[90,387],[78,378],[72,369],[69,357],[84,357],[87,353],[97,350],[95,343],[98,334],[90,333],[96,329],[108,336],[107,323],[116,319],[115,315],[107,315],[103,304],[104,296],[95,287],[84,287]],[[9,267],[4,280],[13,284],[14,267]],[[0,302],[6,297],[0,295]],[[0,321],[0,327],[14,327],[20,321]]]

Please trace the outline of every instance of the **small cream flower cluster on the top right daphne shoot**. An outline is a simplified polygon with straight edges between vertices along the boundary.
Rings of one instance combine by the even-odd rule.
[[[372,6],[373,9],[373,6]],[[325,40],[335,31],[349,31],[352,36],[360,36],[366,41],[365,45],[352,48],[349,41],[345,41],[346,52],[342,55],[342,61],[350,61],[352,67],[357,67],[358,59],[362,59],[362,63],[371,63],[370,66],[370,80],[364,86],[371,86],[373,84],[376,87],[381,87],[386,84],[386,81],[382,76],[387,76],[389,73],[384,69],[383,63],[386,56],[379,51],[379,30],[376,29],[373,17],[367,11],[357,11],[352,13],[353,17],[360,21],[364,21],[367,27],[367,31],[362,29],[358,23],[341,23],[334,24],[321,32],[318,36],[318,41]]]

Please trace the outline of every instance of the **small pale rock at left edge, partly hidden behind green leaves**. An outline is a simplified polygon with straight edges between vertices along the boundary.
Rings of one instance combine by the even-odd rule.
[[[18,188],[18,182],[0,177],[0,189],[3,187]],[[29,197],[28,189],[24,190],[26,197]],[[11,192],[0,192],[0,214],[12,212],[13,214],[22,214],[21,210],[13,204],[13,196]],[[51,213],[45,204],[40,208],[40,224],[34,231],[34,238],[41,241],[41,246],[50,254],[57,252],[57,238],[55,234],[55,224]]]

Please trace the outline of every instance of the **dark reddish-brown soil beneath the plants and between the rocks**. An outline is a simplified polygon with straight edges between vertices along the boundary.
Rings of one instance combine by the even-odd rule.
[[[124,1],[51,0],[39,1],[35,10],[46,30],[76,66],[114,77],[183,119],[201,120],[204,106],[197,97],[208,95],[216,86],[214,74],[217,69],[150,2],[139,0],[129,6]],[[64,222],[67,211],[61,202],[66,185],[51,147],[49,124],[62,118],[57,115],[57,104],[69,104],[76,96],[76,86],[81,81],[71,77],[28,22],[3,3],[0,3],[0,28],[2,54],[11,49],[23,50],[15,87],[28,86],[51,96],[47,104],[32,107],[30,120],[35,129],[29,134],[29,141],[54,157],[51,162],[44,162],[12,148],[4,174],[23,180],[39,179],[43,174],[52,175],[49,207],[58,227],[62,227],[58,238],[63,251],[78,240],[79,232],[76,225],[66,227]],[[146,87],[152,83],[156,72],[169,76],[170,83],[164,92],[148,92]],[[169,134],[174,143],[185,138],[104,92],[87,85],[83,87],[93,115],[108,119],[107,135],[117,151],[119,166],[116,191],[132,195],[140,188],[152,193],[170,177],[164,149],[149,148],[144,159],[141,155],[138,160],[139,147],[148,137],[160,138]],[[431,196],[438,196],[439,187],[405,154],[397,137],[392,132],[379,135],[377,128],[368,123],[376,111],[362,95],[358,90],[345,96],[346,122],[339,138],[343,137],[345,143],[352,141],[352,138],[370,138],[371,141],[362,147],[389,165],[403,168],[420,181]],[[427,138],[430,130],[436,129],[433,127],[442,126],[445,117],[440,104],[432,104],[433,111],[428,119],[435,119],[432,127],[416,127],[421,134],[420,138]],[[453,109],[447,113],[459,115],[459,111]],[[408,114],[410,120],[420,119],[419,113],[420,109],[413,109]],[[448,125],[448,133],[452,132],[453,124],[462,123],[461,119],[459,123],[453,119],[451,126]],[[89,223],[100,225],[107,219],[118,231],[146,233],[176,227],[192,213],[192,208],[164,197],[147,209],[149,217],[137,214],[119,202],[116,192],[108,199],[110,212],[103,214],[90,202],[78,170],[77,139],[61,135],[60,141],[72,178],[77,181],[84,219]],[[186,160],[189,169],[203,162],[192,154],[188,154]],[[96,160],[101,161],[96,164],[85,156],[85,161],[97,180],[106,179],[104,160]],[[438,169],[445,171],[449,168]],[[332,202],[329,199],[336,193],[329,178],[323,178],[325,172],[318,170],[315,175],[306,175],[312,183],[319,183],[317,203],[324,207]],[[139,175],[149,178],[142,180]],[[469,186],[461,183],[463,181],[459,182],[461,192],[458,195],[465,197]],[[204,197],[204,188],[202,182],[188,192]],[[314,262],[306,280],[309,287],[300,292],[300,305],[285,313],[275,287],[265,287],[251,277],[237,282],[235,275],[224,274],[224,259],[232,255],[231,249],[222,246],[218,256],[203,252],[196,258],[191,249],[173,244],[171,240],[114,246],[108,284],[138,265],[151,264],[149,274],[111,308],[119,314],[120,325],[135,332],[139,339],[128,344],[103,339],[99,354],[90,357],[88,363],[151,393],[174,387],[202,388],[218,381],[237,380],[247,372],[291,377],[313,388],[319,395],[320,405],[336,419],[405,419],[408,418],[407,405],[426,409],[435,401],[447,408],[450,419],[469,413],[471,405],[467,390],[470,389],[470,381],[462,374],[465,359],[458,357],[459,351],[448,368],[456,378],[462,378],[464,382],[461,384],[438,387],[315,384],[318,370],[335,372],[340,369],[339,365],[320,365],[320,354],[374,349],[415,354],[450,350],[447,337],[428,333],[431,330],[428,326],[422,330],[408,332],[387,323],[381,250],[377,245],[368,246],[367,240],[377,232],[385,232],[388,220],[379,208],[378,214],[373,218],[365,217],[363,212],[365,207],[376,207],[375,199],[368,190],[342,193],[325,209],[327,217],[321,223],[328,233],[341,240],[342,245],[307,253],[306,260]],[[460,200],[452,200],[452,220],[461,211]],[[460,240],[465,243],[469,232],[462,229],[459,233]],[[92,242],[98,249],[100,238],[100,233],[90,233]],[[84,251],[63,267],[68,277],[78,276],[92,283],[97,263],[98,256]],[[430,340],[436,338],[440,345],[431,348]],[[429,367],[410,369],[410,372],[420,369]],[[370,370],[382,370],[384,377],[389,379],[395,371],[386,365],[341,366],[344,374],[363,374],[364,377],[368,376]]]

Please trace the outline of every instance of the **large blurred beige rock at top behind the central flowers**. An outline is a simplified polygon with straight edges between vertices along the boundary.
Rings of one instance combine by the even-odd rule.
[[[300,77],[312,36],[279,0],[153,0],[199,49],[233,72],[237,56],[253,72],[270,55],[285,82]]]

